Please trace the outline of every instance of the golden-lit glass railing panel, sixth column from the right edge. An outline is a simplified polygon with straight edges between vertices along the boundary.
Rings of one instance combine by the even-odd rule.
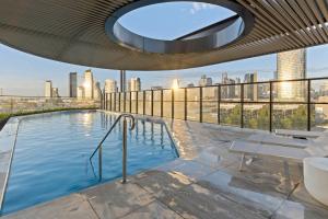
[[[200,89],[187,89],[187,119],[199,120],[200,118]]]

